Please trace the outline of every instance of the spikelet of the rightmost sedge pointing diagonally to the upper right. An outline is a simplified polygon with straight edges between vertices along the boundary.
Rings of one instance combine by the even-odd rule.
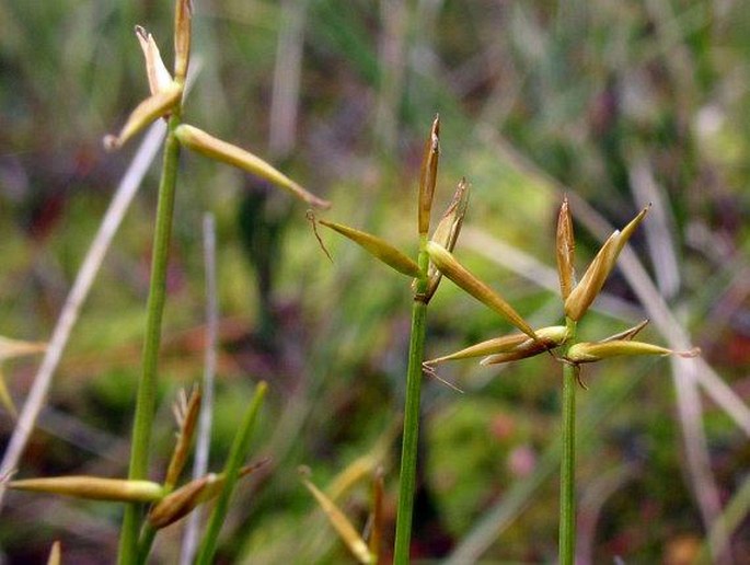
[[[570,295],[565,299],[565,314],[576,322],[581,319],[581,316],[589,309],[591,303],[596,300],[597,296],[604,286],[607,277],[612,272],[614,267],[614,262],[620,255],[620,252],[630,240],[633,232],[638,227],[648,214],[650,206],[647,206],[627,224],[622,231],[615,231],[610,235],[610,238],[604,242],[593,257],[593,261],[586,269],[584,277],[580,282],[573,289]]]

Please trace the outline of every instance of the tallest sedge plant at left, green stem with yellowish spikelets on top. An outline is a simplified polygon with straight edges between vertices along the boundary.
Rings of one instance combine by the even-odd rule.
[[[146,70],[151,95],[141,102],[130,114],[119,134],[107,136],[104,139],[107,148],[116,149],[151,122],[159,118],[168,120],[162,176],[159,185],[151,281],[147,305],[148,316],[142,355],[142,374],[138,384],[128,474],[128,477],[131,480],[143,480],[148,471],[149,443],[157,397],[157,361],[166,298],[166,265],[181,148],[185,147],[216,161],[238,166],[241,170],[266,178],[312,206],[323,208],[328,206],[327,201],[318,198],[261,158],[238,146],[217,139],[195,126],[183,123],[183,93],[189,64],[192,37],[191,22],[192,9],[189,0],[176,0],[173,74],[166,69],[153,36],[140,26],[136,27],[136,34],[146,57]],[[119,562],[123,564],[132,563],[136,557],[140,521],[139,514],[137,505],[129,505],[126,508],[119,549]]]

